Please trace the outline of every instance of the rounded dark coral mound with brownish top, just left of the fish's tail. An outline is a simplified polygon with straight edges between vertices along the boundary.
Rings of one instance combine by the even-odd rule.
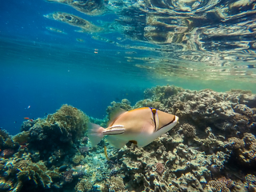
[[[47,160],[50,166],[63,158],[74,156],[73,148],[85,136],[89,118],[73,106],[63,105],[56,113],[34,120],[29,130],[14,136],[14,141],[28,143],[28,150],[38,151],[39,159]]]

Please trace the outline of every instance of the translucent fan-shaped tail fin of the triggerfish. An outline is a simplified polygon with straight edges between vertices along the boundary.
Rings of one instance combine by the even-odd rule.
[[[102,126],[98,126],[94,123],[90,123],[88,127],[88,138],[90,139],[91,145],[96,146],[102,138],[104,138],[104,134],[102,133],[105,129]]]

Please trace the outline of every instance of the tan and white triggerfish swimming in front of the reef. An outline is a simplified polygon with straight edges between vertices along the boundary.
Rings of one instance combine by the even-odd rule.
[[[122,109],[119,108],[119,110]],[[142,147],[165,134],[177,123],[178,117],[174,114],[167,114],[150,107],[122,110],[114,115],[110,114],[110,123],[106,129],[90,123],[88,137],[92,146],[96,146],[106,135],[107,141],[118,149],[127,142]]]

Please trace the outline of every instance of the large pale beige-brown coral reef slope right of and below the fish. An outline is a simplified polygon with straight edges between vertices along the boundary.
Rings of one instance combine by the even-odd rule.
[[[149,146],[119,150],[115,177],[125,175],[126,190],[254,191],[255,183],[245,182],[246,175],[231,171],[234,159],[245,171],[255,167],[254,94],[157,86],[146,90],[133,109],[142,106],[176,114],[180,124]]]

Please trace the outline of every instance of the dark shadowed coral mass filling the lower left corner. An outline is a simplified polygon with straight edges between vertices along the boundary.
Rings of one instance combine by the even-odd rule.
[[[47,118],[23,122],[22,132],[13,137],[1,130],[0,190],[59,190],[69,183],[66,172],[61,172],[72,171],[74,162],[82,160],[79,141],[87,122],[81,110],[63,105]]]

